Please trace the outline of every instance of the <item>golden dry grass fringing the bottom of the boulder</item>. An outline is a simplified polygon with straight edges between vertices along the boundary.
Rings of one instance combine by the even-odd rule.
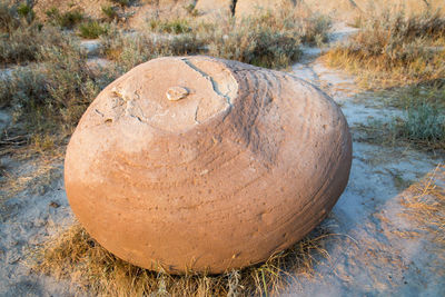
[[[70,279],[79,293],[100,296],[268,296],[279,295],[297,277],[314,276],[313,266],[329,259],[325,246],[335,235],[317,228],[291,249],[266,263],[222,275],[155,273],[128,264],[103,249],[76,224],[32,256],[33,270]]]

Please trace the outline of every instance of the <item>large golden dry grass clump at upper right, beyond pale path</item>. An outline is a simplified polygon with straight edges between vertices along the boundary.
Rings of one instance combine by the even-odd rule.
[[[394,87],[445,77],[445,18],[438,13],[372,16],[345,44],[326,55],[328,65],[357,75],[364,87]]]

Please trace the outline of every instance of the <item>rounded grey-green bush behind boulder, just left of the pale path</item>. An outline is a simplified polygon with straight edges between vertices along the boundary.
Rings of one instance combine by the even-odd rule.
[[[330,28],[324,17],[303,18],[286,10],[221,23],[208,37],[208,53],[266,68],[288,67],[299,58],[300,42],[326,41]]]

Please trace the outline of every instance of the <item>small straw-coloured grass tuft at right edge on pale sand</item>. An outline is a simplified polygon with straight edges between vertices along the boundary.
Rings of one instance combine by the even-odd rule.
[[[425,179],[411,186],[402,204],[405,215],[445,248],[445,166],[438,165]]]

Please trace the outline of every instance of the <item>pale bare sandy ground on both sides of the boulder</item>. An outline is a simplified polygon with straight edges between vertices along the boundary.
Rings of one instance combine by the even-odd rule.
[[[336,26],[334,40],[343,40],[352,28]],[[96,50],[95,46],[87,47]],[[305,48],[304,59],[293,73],[319,86],[343,109],[354,138],[354,161],[349,184],[323,222],[333,240],[329,259],[319,259],[315,276],[300,277],[285,296],[443,296],[443,255],[427,237],[406,237],[417,227],[399,216],[400,195],[414,181],[434,170],[443,159],[406,147],[389,148],[363,142],[356,127],[368,119],[387,120],[399,112],[382,108],[375,96],[363,92],[354,78],[326,68],[317,57],[320,49]],[[0,128],[10,117],[0,113]],[[0,178],[17,180],[36,175],[39,160],[0,159],[6,168]],[[0,296],[72,296],[66,281],[36,275],[26,255],[52,234],[72,222],[63,189],[62,164],[44,182],[30,178],[23,190],[8,197],[0,189]],[[8,175],[8,176],[7,176]]]

